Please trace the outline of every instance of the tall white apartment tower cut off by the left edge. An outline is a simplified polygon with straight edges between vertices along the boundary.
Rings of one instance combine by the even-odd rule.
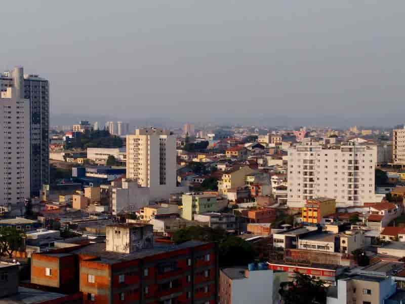
[[[23,203],[30,197],[30,100],[24,98],[24,72],[17,67],[0,90],[0,206]]]

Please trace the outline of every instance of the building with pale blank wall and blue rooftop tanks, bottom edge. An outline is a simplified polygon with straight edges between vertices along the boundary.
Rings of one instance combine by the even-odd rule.
[[[252,300],[257,304],[276,304],[280,302],[280,283],[288,281],[288,274],[269,270],[266,263],[260,263],[259,269],[222,269],[219,281],[220,304],[245,304]]]

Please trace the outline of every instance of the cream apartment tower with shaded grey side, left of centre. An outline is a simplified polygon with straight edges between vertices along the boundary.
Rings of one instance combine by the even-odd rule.
[[[127,178],[150,188],[153,198],[176,191],[176,137],[168,130],[137,129],[127,135]]]

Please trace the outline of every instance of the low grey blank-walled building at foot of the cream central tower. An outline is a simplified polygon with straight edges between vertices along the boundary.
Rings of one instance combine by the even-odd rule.
[[[123,178],[121,187],[113,187],[112,214],[135,211],[149,205],[149,188],[140,187],[136,180]]]

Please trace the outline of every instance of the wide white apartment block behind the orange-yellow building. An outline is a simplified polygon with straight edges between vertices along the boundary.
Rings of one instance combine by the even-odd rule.
[[[337,207],[378,202],[375,195],[377,146],[350,143],[324,148],[306,142],[288,149],[289,207],[303,207],[307,199],[336,199]]]

